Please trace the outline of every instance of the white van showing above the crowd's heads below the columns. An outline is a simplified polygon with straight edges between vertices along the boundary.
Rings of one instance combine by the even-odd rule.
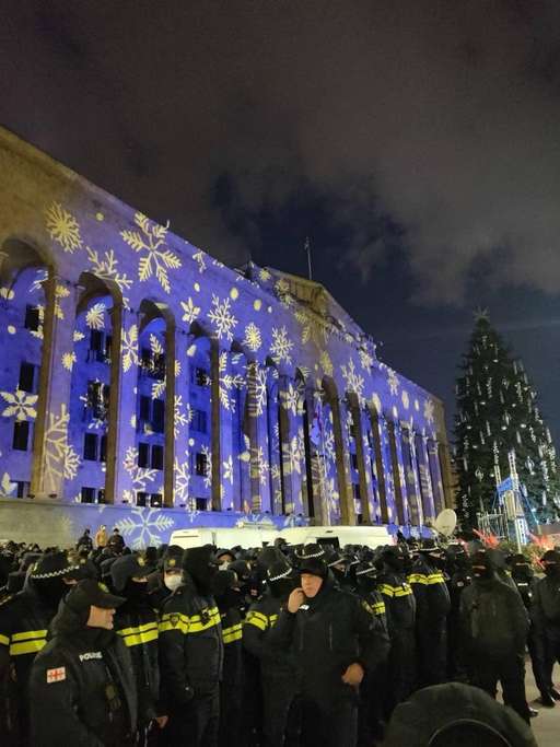
[[[197,527],[192,529],[177,529],[170,538],[170,545],[183,548],[215,545],[215,547],[243,548],[273,545],[275,539],[282,537],[289,545],[366,545],[372,549],[381,545],[393,545],[394,538],[386,526],[305,526],[288,529],[277,529],[262,526],[244,526],[234,528]]]

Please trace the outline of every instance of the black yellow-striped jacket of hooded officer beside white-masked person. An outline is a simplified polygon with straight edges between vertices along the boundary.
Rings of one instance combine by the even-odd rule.
[[[197,592],[186,572],[184,577],[185,585],[165,602],[160,621],[162,691],[171,708],[187,703],[192,695],[215,692],[222,678],[218,606],[212,596]]]

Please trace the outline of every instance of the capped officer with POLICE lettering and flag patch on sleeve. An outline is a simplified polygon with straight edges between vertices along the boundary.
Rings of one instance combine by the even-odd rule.
[[[31,673],[33,747],[135,744],[135,678],[128,651],[113,630],[124,602],[93,579],[81,581],[61,602],[54,638]]]

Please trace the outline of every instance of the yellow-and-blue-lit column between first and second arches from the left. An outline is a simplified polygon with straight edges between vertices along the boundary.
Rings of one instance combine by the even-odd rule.
[[[43,350],[38,382],[37,417],[33,436],[31,492],[39,497],[65,495],[65,479],[73,478],[81,455],[68,443],[72,366],[62,357],[74,349],[79,289],[49,269],[45,288]]]

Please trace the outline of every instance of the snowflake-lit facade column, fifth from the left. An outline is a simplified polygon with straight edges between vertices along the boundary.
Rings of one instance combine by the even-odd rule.
[[[267,371],[256,361],[247,365],[250,500],[254,512],[270,511],[268,460]]]

